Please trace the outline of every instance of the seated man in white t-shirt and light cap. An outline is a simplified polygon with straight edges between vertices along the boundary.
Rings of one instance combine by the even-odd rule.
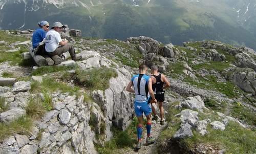
[[[61,23],[56,22],[53,24],[52,29],[46,34],[46,52],[50,57],[54,55],[61,55],[69,51],[71,59],[76,61],[81,59],[81,56],[76,56],[75,49],[68,40],[62,40],[60,37],[60,32],[62,27]]]

